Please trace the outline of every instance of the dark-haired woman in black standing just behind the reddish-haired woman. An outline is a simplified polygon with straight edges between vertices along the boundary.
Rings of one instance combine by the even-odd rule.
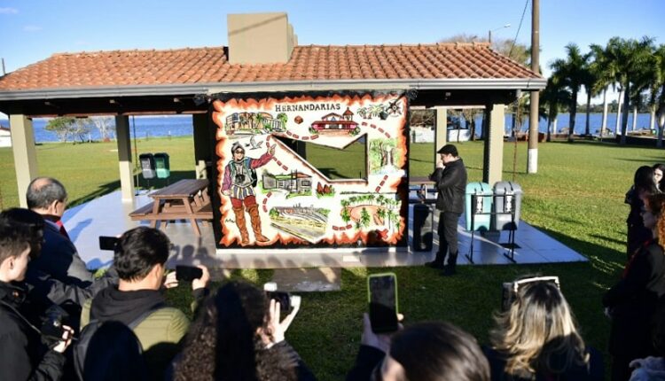
[[[656,182],[653,178],[653,168],[648,166],[638,167],[635,171],[633,186],[626,193],[625,203],[630,205],[630,212],[626,219],[628,225],[628,240],[626,253],[628,258],[635,253],[638,248],[651,238],[651,230],[645,228],[640,215],[645,205],[645,198],[658,193]]]

